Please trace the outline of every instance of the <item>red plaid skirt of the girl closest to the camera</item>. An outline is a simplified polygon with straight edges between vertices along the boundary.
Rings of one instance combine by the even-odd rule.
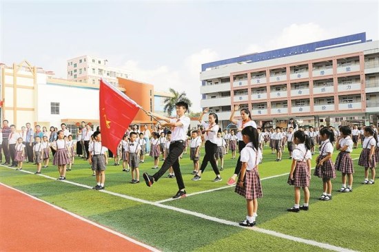
[[[256,198],[263,197],[259,173],[255,168],[250,171],[246,171],[243,187],[238,185],[239,182],[240,177],[238,177],[236,189],[234,191],[240,196],[244,196],[247,200],[254,200]]]

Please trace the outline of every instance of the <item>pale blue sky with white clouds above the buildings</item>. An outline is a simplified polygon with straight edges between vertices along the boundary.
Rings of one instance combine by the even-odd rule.
[[[0,63],[24,59],[66,78],[91,55],[132,78],[186,92],[200,112],[201,64],[366,32],[378,1],[3,1]]]

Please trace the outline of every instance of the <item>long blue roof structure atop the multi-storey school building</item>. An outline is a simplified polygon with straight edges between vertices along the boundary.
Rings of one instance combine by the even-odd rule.
[[[351,34],[348,36],[340,36],[335,39],[327,39],[322,41],[317,41],[313,43],[307,43],[303,45],[295,45],[290,48],[282,48],[267,52],[260,52],[256,54],[249,54],[245,56],[239,56],[232,59],[223,59],[221,61],[214,61],[210,63],[205,63],[201,65],[201,71],[205,71],[209,67],[217,67],[218,65],[227,65],[231,63],[238,63],[243,61],[249,61],[247,63],[253,63],[258,61],[267,61],[269,59],[278,59],[287,56],[294,56],[297,54],[306,54],[309,52],[316,52],[320,50],[328,50],[331,48],[338,48],[347,45],[354,45],[357,43],[365,43],[366,32]]]

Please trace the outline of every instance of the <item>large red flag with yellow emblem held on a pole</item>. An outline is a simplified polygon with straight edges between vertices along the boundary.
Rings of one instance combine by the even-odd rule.
[[[101,143],[116,153],[127,126],[141,106],[103,79],[99,98]]]

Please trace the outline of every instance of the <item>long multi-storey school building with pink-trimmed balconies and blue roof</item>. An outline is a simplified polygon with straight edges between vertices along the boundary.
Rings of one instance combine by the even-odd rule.
[[[365,33],[205,63],[200,78],[201,106],[223,127],[236,104],[263,126],[289,117],[312,125],[378,120],[379,41]]]

